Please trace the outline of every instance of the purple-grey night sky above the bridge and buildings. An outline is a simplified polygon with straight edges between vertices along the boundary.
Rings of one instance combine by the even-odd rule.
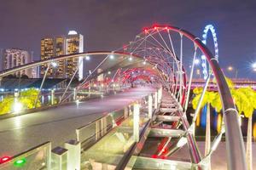
[[[0,48],[23,48],[39,59],[40,39],[76,30],[85,50],[113,50],[155,23],[182,27],[201,37],[217,29],[219,62],[256,80],[256,2],[198,0],[1,0]],[[233,73],[227,76],[235,77]]]

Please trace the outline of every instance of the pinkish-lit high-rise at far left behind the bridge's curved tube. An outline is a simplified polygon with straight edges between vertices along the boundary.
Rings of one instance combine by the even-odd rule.
[[[25,65],[30,62],[32,62],[32,54],[29,54],[29,52],[27,52],[26,50],[15,48],[3,49],[3,70],[10,69],[15,66]],[[32,77],[32,69],[17,71],[14,75],[17,77],[20,77],[22,75]]]

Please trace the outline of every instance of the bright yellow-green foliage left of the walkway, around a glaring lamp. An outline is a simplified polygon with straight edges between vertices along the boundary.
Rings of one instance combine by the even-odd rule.
[[[20,96],[18,97],[18,101],[22,105],[22,109],[32,109],[34,108],[36,99],[38,97],[39,91],[35,88],[30,88],[28,90],[20,92]],[[0,102],[0,115],[9,113],[13,111],[13,106],[15,104],[15,96],[8,95],[3,101]],[[41,106],[41,102],[38,100],[37,107]]]

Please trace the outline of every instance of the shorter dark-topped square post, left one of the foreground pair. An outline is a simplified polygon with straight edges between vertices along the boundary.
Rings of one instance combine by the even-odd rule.
[[[59,146],[51,150],[51,169],[67,170],[67,150]]]

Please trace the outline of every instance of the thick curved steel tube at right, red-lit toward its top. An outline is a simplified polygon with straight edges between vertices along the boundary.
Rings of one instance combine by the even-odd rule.
[[[189,31],[184,31],[173,26],[168,26],[168,29],[177,31],[182,33],[183,36],[188,37],[192,42],[195,42],[198,48],[201,49],[201,52],[205,54],[208,63],[211,65],[213,75],[216,78],[218,93],[221,96],[223,105],[228,168],[232,170],[247,169],[245,148],[241,136],[241,128],[238,122],[238,113],[230,94],[230,88],[228,87],[224,74],[218,65],[217,59],[212,55],[207,46]]]

